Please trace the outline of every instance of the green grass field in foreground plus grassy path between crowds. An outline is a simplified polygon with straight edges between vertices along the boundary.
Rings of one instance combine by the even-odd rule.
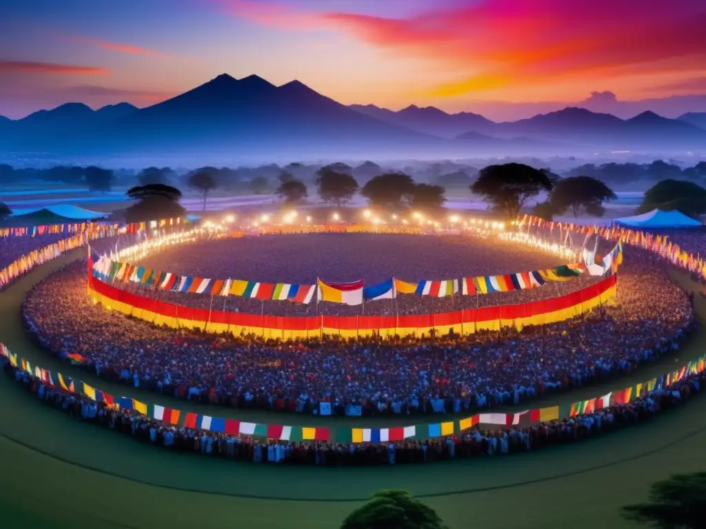
[[[187,405],[105,384],[33,348],[20,327],[19,305],[35,281],[76,255],[44,265],[0,293],[0,340],[12,351],[115,395],[244,420],[319,423],[299,415],[273,419],[272,413]],[[689,286],[683,275],[675,276]],[[697,296],[697,303],[705,315],[704,300]],[[705,336],[694,336],[676,358],[664,358],[636,376],[544,401],[575,401],[640,382],[683,365],[705,348]],[[631,524],[619,516],[620,506],[644,500],[655,480],[706,468],[703,398],[653,422],[580,444],[505,458],[372,468],[256,466],[172,454],[67,418],[6,377],[0,377],[0,399],[0,513],[8,528],[333,529],[372,492],[388,487],[423,497],[451,528],[627,528]],[[357,418],[321,420],[334,427],[350,423],[379,425]]]

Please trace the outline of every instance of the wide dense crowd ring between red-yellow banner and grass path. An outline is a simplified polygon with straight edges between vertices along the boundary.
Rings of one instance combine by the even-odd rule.
[[[515,262],[513,255],[506,258],[508,266]],[[283,260],[282,270],[296,266],[287,255]],[[23,317],[40,346],[62,357],[78,353],[100,377],[125,384],[299,413],[316,413],[321,402],[330,402],[335,414],[361,406],[364,415],[424,413],[438,410],[439,401],[458,412],[517,403],[634,370],[678,348],[695,324],[688,297],[671,283],[664,262],[634,248],[626,248],[614,306],[521,332],[423,339],[281,342],[154,327],[92,305],[85,274],[86,263],[78,262],[29,293]]]

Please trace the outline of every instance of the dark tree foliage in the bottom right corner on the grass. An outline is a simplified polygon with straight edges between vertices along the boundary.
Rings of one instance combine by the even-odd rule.
[[[650,502],[623,507],[628,520],[660,529],[697,529],[704,526],[706,472],[673,475],[650,487]]]

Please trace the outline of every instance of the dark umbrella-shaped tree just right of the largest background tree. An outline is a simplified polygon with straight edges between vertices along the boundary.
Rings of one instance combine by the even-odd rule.
[[[554,214],[562,214],[571,209],[574,217],[578,217],[581,210],[602,217],[605,213],[602,202],[616,198],[613,190],[598,178],[571,176],[559,180],[554,185],[549,195],[549,204],[554,209]]]

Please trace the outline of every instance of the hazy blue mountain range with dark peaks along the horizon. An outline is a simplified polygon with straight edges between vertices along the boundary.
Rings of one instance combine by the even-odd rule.
[[[706,152],[706,113],[646,111],[621,119],[567,107],[520,121],[435,107],[345,106],[294,80],[213,80],[138,109],[67,103],[19,120],[0,116],[0,150],[56,155],[225,154],[278,159],[442,158],[581,154],[595,150]]]

